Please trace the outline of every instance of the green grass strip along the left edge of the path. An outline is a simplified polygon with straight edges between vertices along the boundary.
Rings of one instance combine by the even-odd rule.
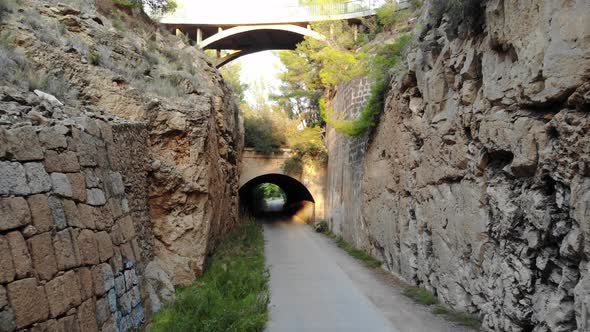
[[[262,227],[249,220],[216,249],[201,278],[177,289],[148,331],[262,331],[268,279]]]

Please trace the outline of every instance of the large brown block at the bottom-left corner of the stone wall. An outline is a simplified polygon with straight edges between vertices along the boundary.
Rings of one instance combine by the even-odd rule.
[[[8,298],[18,328],[49,318],[49,306],[43,286],[37,285],[35,278],[15,281],[8,285]]]

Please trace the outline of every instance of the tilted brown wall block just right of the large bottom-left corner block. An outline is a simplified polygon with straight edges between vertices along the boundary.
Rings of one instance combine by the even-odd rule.
[[[47,282],[45,284],[45,293],[47,294],[51,317],[64,314],[82,302],[80,281],[74,271],[69,271],[63,276]]]

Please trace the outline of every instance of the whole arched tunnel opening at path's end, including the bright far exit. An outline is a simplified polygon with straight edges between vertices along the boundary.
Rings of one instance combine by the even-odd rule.
[[[311,223],[315,217],[315,200],[299,180],[284,174],[265,174],[253,178],[240,188],[240,208],[257,218],[281,216]]]

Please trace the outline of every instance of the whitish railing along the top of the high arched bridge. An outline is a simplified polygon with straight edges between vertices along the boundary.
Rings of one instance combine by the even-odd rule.
[[[401,8],[409,5],[408,0],[397,0]],[[249,1],[235,6],[212,4],[212,1],[181,1],[179,9],[164,18],[163,23],[176,24],[268,24],[313,22],[331,19],[351,19],[375,14],[385,0],[349,0],[330,4],[309,4],[290,6],[261,6],[252,8]],[[221,1],[220,1],[221,2]]]

